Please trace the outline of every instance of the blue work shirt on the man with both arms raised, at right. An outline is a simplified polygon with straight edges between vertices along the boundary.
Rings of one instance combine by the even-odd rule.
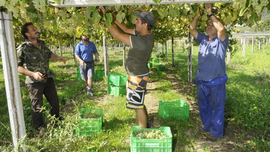
[[[225,57],[228,47],[228,36],[221,41],[218,36],[208,41],[208,36],[198,32],[199,44],[198,68],[196,78],[202,81],[211,81],[226,74]]]

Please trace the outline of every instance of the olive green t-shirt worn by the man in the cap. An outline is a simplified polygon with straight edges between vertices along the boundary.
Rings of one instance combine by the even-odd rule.
[[[125,62],[125,70],[130,76],[141,76],[149,73],[147,63],[155,38],[152,33],[141,36],[135,29],[134,35],[129,37],[131,49]]]

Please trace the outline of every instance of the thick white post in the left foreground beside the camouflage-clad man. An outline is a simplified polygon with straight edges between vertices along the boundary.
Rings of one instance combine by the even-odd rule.
[[[26,137],[21,90],[18,75],[15,40],[11,12],[0,12],[0,46],[3,63],[6,99],[8,103],[13,146],[18,150],[18,140]],[[23,146],[25,151],[28,148]]]

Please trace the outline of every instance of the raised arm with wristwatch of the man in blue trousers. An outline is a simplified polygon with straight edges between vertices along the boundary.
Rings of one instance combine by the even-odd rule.
[[[208,15],[211,15],[213,13],[211,3],[206,4],[205,9]],[[224,41],[226,39],[225,27],[215,15],[211,16],[211,20],[213,21],[214,27],[218,30],[218,37],[221,41]]]

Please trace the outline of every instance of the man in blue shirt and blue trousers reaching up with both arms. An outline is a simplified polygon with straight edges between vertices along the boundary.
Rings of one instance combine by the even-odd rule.
[[[226,97],[225,57],[228,36],[225,27],[212,13],[212,5],[205,5],[211,21],[207,25],[207,35],[196,29],[199,12],[191,21],[189,31],[199,44],[198,69],[196,71],[198,105],[203,132],[211,132],[206,140],[216,141],[223,136],[224,105]]]

